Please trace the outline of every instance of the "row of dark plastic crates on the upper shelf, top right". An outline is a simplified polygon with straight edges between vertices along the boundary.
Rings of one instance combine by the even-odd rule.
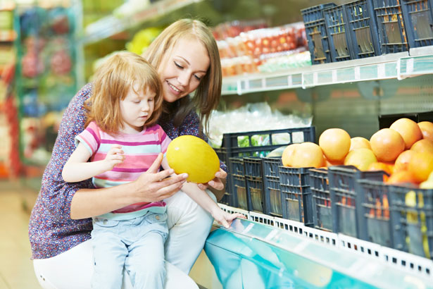
[[[356,0],[301,10],[313,64],[433,45],[432,0]]]

